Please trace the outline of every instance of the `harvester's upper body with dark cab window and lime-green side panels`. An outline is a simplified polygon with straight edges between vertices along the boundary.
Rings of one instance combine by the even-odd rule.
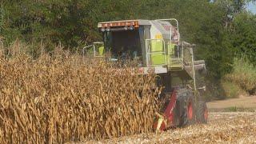
[[[176,26],[168,21],[175,21]],[[157,74],[166,73],[175,62],[182,62],[175,19],[100,22],[98,28],[105,50],[110,51],[111,61],[138,59],[139,67],[155,67]]]

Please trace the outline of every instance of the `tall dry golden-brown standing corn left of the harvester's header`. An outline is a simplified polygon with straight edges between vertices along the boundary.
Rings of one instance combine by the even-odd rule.
[[[152,131],[154,75],[67,53],[0,58],[0,142],[63,143]]]

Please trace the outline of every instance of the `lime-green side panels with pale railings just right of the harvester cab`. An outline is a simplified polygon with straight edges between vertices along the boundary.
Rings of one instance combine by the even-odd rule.
[[[170,40],[146,39],[146,66],[166,66],[169,70],[182,70],[178,21],[174,18],[158,19],[157,21],[175,21],[176,27],[170,26]],[[173,34],[173,31],[177,34]]]

